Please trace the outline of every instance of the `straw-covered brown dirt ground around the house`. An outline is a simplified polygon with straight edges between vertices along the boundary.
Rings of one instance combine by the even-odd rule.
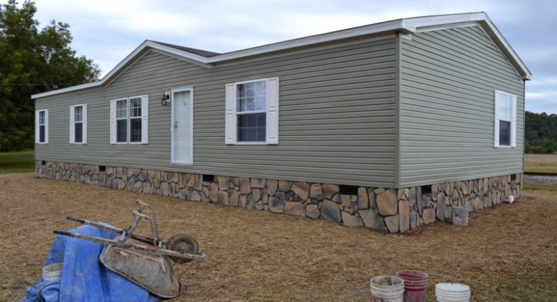
[[[400,269],[435,283],[463,282],[473,301],[555,301],[557,191],[525,191],[514,204],[472,213],[468,227],[434,224],[405,235],[142,195],[73,182],[0,175],[0,301],[15,301],[41,274],[66,215],[131,223],[136,198],[157,210],[164,237],[186,230],[206,262],[175,266],[176,301],[369,301],[369,279]]]

